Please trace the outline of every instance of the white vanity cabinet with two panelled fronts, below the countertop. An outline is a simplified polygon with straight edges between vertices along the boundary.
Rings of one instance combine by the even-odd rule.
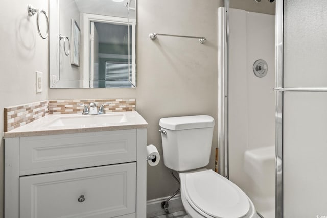
[[[5,218],[146,217],[146,129],[5,138]]]

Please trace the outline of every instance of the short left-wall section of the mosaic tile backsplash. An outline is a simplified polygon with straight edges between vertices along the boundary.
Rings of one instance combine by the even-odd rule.
[[[48,115],[48,113],[48,101],[7,107],[4,111],[4,131],[7,132],[17,127],[24,126],[25,124]]]

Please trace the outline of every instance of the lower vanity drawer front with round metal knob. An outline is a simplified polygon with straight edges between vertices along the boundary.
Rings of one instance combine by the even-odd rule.
[[[23,176],[19,217],[135,217],[135,180],[136,163]]]

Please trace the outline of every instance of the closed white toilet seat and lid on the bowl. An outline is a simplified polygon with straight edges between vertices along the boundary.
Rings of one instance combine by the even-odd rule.
[[[182,193],[202,217],[241,218],[253,214],[253,204],[235,184],[212,170],[180,174]]]

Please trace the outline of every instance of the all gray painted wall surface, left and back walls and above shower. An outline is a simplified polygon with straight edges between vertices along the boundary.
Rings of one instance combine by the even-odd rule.
[[[254,0],[231,0],[231,7],[252,5]],[[262,12],[270,4],[255,3]],[[45,99],[136,98],[136,109],[149,122],[148,144],[161,152],[158,122],[161,117],[208,114],[217,121],[217,8],[222,1],[138,0],[137,88],[136,89],[48,89],[48,40],[38,36],[36,17],[27,17],[27,2],[5,2],[0,19],[0,117],[3,108]],[[48,11],[48,2],[29,4]],[[15,10],[12,10],[12,9]],[[247,7],[248,8],[248,7]],[[268,10],[266,10],[268,9]],[[201,45],[193,39],[148,38],[150,32],[199,35],[208,38]],[[43,92],[35,93],[35,71],[43,72]],[[0,132],[4,120],[0,119]],[[217,146],[217,126],[213,150]],[[0,147],[0,187],[3,187],[3,143]],[[214,153],[209,164],[214,167]],[[176,185],[161,162],[148,167],[148,199],[168,196]],[[0,196],[3,189],[0,188]],[[0,217],[3,214],[0,198]]]

